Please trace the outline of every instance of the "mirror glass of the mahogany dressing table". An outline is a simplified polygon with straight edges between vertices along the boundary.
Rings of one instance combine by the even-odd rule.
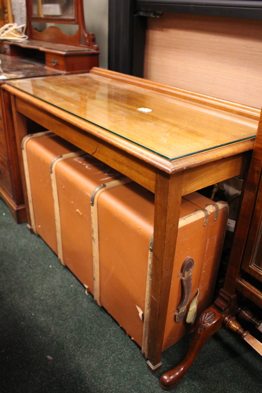
[[[32,0],[32,15],[40,18],[74,18],[73,0]]]

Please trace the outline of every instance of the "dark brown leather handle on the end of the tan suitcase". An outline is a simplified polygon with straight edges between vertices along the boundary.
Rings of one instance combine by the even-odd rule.
[[[194,261],[191,257],[187,257],[181,266],[181,273],[178,277],[181,277],[181,289],[182,299],[175,311],[175,321],[181,322],[187,313],[186,307],[191,296],[192,289],[192,269],[194,268]]]

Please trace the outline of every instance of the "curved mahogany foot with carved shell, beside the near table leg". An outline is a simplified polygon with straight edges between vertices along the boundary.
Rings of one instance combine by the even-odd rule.
[[[205,342],[222,327],[224,318],[225,316],[212,306],[203,312],[196,324],[187,356],[179,365],[161,375],[159,382],[163,389],[172,389],[181,382]]]

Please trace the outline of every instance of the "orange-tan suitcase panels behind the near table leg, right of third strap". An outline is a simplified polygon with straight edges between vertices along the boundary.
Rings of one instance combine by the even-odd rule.
[[[227,206],[221,209],[222,222],[217,222],[215,235],[210,239],[214,253],[212,250],[207,253],[205,248],[209,242],[209,222],[212,216],[214,219],[215,209],[211,208],[211,213],[207,213],[208,222],[205,226],[203,211],[196,210],[205,209],[210,203],[213,202],[197,193],[187,195],[181,201],[181,218],[163,349],[192,329],[191,325],[185,323],[185,318],[179,323],[174,321],[174,311],[181,300],[180,270],[188,256],[194,259],[194,269],[187,309],[199,286],[201,288],[198,315],[205,309],[205,305],[211,303],[227,222]],[[145,312],[147,260],[150,237],[153,233],[154,197],[135,183],[125,185],[121,189],[112,189],[100,196],[98,215],[101,304],[142,346],[143,315],[139,315],[139,310]],[[108,230],[108,223],[111,230]],[[202,262],[207,274],[202,271]],[[212,288],[207,281],[211,278]]]

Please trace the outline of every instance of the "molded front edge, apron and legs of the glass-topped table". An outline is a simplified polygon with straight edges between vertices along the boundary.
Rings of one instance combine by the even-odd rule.
[[[158,369],[161,366],[181,196],[246,172],[254,140],[233,143],[172,162],[10,85],[3,86],[2,94],[8,99],[11,97],[25,199],[20,146],[28,132],[27,118],[155,193],[148,365],[153,370]],[[30,220],[28,208],[27,217]]]

